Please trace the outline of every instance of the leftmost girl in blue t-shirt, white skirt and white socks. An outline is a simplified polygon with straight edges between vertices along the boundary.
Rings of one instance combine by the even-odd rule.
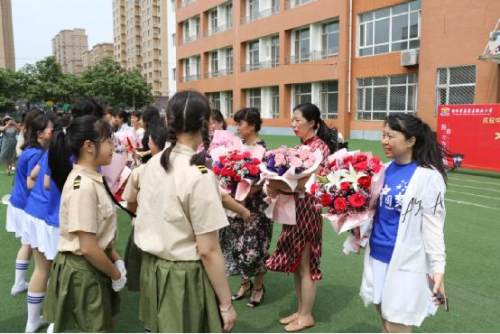
[[[22,146],[22,153],[19,157],[14,186],[12,188],[10,203],[7,206],[7,231],[15,233],[16,237],[21,238],[21,248],[16,257],[16,275],[11,294],[16,295],[28,288],[26,282],[26,273],[31,257],[31,248],[29,239],[25,234],[26,213],[24,207],[30,194],[28,183],[32,183],[31,171],[37,165],[42,157],[45,146],[52,135],[52,125],[46,115],[39,112],[32,112],[26,116],[25,127],[26,140]]]

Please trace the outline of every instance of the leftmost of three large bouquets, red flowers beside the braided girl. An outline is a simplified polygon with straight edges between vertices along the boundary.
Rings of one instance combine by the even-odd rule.
[[[245,200],[252,185],[259,180],[264,147],[246,146],[234,134],[223,130],[215,131],[212,142],[215,143],[209,149],[212,171],[219,178],[221,191],[237,201]]]

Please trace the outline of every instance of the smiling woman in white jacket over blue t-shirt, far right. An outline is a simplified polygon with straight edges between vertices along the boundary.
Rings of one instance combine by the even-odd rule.
[[[390,115],[382,146],[392,159],[367,245],[361,297],[375,304],[386,332],[410,332],[447,306],[444,291],[442,150],[427,124],[409,114]]]

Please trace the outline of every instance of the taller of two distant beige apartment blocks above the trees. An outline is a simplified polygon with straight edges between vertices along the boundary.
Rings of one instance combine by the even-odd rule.
[[[79,74],[84,70],[83,54],[89,48],[85,29],[61,30],[52,39],[52,52],[65,74]]]

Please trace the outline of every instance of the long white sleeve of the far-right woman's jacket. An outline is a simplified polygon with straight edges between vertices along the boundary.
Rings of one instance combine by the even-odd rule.
[[[437,171],[434,171],[429,181],[425,187],[423,198],[422,235],[424,248],[432,273],[444,274],[446,266],[444,243],[446,184]]]

